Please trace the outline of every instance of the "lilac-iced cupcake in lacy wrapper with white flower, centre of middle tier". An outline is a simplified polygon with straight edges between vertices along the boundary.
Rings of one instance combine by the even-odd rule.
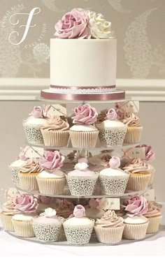
[[[99,174],[87,168],[87,163],[76,163],[75,170],[66,174],[71,195],[92,195]]]

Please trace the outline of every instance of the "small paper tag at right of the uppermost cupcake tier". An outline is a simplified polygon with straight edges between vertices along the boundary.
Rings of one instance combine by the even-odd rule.
[[[124,103],[119,103],[120,112],[132,112],[138,113],[139,112],[139,102],[138,101],[128,101]]]

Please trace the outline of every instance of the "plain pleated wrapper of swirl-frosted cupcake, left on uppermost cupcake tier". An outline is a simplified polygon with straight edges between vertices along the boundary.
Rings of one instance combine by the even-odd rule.
[[[69,131],[48,131],[41,129],[45,146],[65,147],[68,145]]]

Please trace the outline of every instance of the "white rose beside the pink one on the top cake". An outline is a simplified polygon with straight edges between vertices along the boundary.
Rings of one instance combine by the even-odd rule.
[[[87,12],[92,38],[113,38],[111,22],[107,22],[101,13]]]

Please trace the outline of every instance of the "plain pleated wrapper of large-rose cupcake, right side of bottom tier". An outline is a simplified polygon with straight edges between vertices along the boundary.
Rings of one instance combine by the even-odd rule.
[[[143,224],[125,224],[123,238],[129,240],[145,238],[149,222]]]

